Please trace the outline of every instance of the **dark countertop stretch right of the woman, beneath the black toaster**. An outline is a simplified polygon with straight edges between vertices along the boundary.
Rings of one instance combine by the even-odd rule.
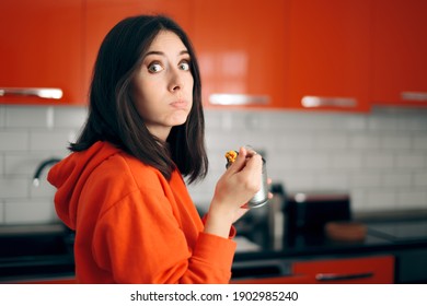
[[[324,233],[308,233],[292,235],[282,242],[264,246],[251,245],[250,250],[245,250],[244,246],[239,248],[238,243],[235,260],[351,256],[427,248],[426,210],[359,213],[355,214],[354,221],[367,226],[365,239],[337,242],[328,238]],[[246,243],[247,240],[243,239],[243,245]]]

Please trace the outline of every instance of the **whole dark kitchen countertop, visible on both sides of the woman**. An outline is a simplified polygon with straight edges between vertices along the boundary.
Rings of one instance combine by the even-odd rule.
[[[427,213],[424,211],[406,215],[360,214],[356,220],[368,227],[363,240],[335,242],[324,235],[310,234],[296,235],[281,242],[281,246],[273,247],[259,246],[238,236],[233,267],[265,260],[394,255],[404,250],[427,249]],[[250,249],[242,248],[242,243],[249,243]],[[71,276],[73,269],[72,235],[60,225],[28,228],[0,226],[0,283]]]

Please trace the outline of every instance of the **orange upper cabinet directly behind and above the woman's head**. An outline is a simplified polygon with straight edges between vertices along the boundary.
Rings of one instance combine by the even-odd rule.
[[[187,33],[191,27],[189,0],[85,0],[84,89],[89,91],[93,66],[105,35],[120,20],[138,14],[165,14]]]

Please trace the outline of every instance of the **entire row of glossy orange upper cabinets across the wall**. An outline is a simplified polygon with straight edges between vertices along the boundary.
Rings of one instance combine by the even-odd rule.
[[[187,32],[208,107],[427,106],[425,0],[2,0],[0,103],[86,104],[107,32],[150,13]]]

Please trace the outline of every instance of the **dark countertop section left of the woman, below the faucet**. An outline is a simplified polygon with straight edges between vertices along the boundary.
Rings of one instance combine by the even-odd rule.
[[[60,224],[0,226],[0,283],[73,275],[71,249]]]

